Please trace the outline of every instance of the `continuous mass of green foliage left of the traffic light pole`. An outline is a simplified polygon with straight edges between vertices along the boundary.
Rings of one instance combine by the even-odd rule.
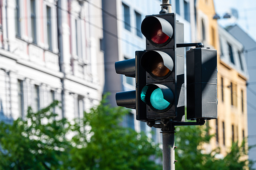
[[[127,110],[105,101],[82,119],[58,120],[55,101],[24,120],[0,123],[0,169],[161,169],[161,150],[120,124]]]

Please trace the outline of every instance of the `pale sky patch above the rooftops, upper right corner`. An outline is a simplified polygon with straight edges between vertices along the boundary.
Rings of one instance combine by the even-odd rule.
[[[221,26],[237,24],[256,41],[256,0],[214,0],[214,5],[216,13],[221,18],[225,13],[230,13],[231,9],[237,11],[237,19],[219,19],[218,23]]]

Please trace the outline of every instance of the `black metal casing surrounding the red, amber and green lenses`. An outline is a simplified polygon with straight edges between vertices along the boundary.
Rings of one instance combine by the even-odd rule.
[[[163,112],[156,112],[151,109],[149,105],[146,105],[147,118],[152,120],[169,118],[176,121],[185,121],[184,48],[180,48],[179,50],[176,48],[176,43],[184,43],[184,25],[176,22],[176,16],[174,13],[146,16],[145,19],[147,19],[147,17],[164,19],[172,26],[172,28],[170,28],[166,22],[161,22],[159,20],[163,31],[164,29],[173,30],[173,32],[166,33],[166,35],[171,33],[173,33],[173,35],[163,45],[155,45],[154,43],[150,42],[146,32],[148,29],[150,29],[151,22],[149,20],[147,20],[147,22],[144,24],[144,21],[142,22],[141,31],[146,37],[146,51],[148,52],[154,50],[166,53],[173,60],[173,70],[164,79],[155,79],[148,72],[146,72],[146,85],[161,84],[172,90],[174,94],[172,106]],[[179,67],[177,67],[177,65]]]

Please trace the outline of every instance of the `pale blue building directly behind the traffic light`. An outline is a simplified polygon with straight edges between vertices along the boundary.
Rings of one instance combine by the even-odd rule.
[[[146,15],[159,14],[161,0],[110,0],[102,1],[104,28],[105,92],[111,92],[110,103],[116,106],[115,93],[135,90],[135,79],[118,75],[114,63],[135,57],[135,51],[145,50],[145,38],[141,33],[141,22]],[[176,19],[184,23],[185,42],[195,41],[194,1],[170,1]],[[184,49],[185,50],[185,49]],[[135,110],[123,122],[124,126],[144,131],[156,142],[161,142],[160,129],[150,128],[145,122],[136,120]]]

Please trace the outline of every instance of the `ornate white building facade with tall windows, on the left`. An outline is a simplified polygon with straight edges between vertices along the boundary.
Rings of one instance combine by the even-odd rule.
[[[100,0],[0,1],[1,120],[53,100],[61,102],[60,117],[80,117],[101,100],[101,14]]]

